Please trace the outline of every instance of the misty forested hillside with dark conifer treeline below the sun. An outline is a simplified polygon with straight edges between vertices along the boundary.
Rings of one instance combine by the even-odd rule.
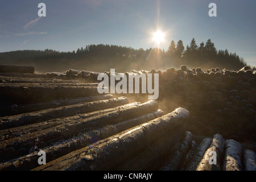
[[[150,70],[180,68],[187,65],[191,68],[238,70],[246,65],[242,58],[228,49],[218,50],[210,39],[197,45],[193,38],[184,47],[182,40],[171,41],[167,51],[159,48],[134,49],[131,47],[108,44],[90,44],[77,51],[59,52],[52,49],[44,51],[24,50],[0,53],[0,64],[32,65],[36,72],[63,72],[67,69],[90,70],[97,72],[126,72],[132,69]]]

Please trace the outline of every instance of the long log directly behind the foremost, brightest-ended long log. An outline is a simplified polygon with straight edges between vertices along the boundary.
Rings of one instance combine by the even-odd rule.
[[[48,146],[42,149],[46,152],[47,161],[54,160],[68,154],[71,151],[79,150],[82,147],[89,146],[95,138],[104,139],[117,134],[123,130],[129,129],[130,127],[139,125],[143,122],[150,121],[151,119],[158,118],[163,115],[162,110],[155,111],[150,114],[141,115],[134,119],[129,119],[115,125],[109,125],[101,129],[89,131],[88,133],[82,133],[77,137],[73,137],[63,142],[58,142],[52,146]],[[96,141],[95,141],[96,142]],[[10,160],[6,163],[0,164],[0,171],[3,170],[30,170],[38,167],[38,151],[22,156],[18,159]]]

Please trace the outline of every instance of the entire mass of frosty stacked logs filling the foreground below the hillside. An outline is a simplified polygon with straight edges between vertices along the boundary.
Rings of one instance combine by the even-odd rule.
[[[100,72],[0,65],[0,171],[256,170],[256,147],[243,142],[255,131],[255,71],[124,74],[142,73],[159,74],[157,100],[100,94]]]

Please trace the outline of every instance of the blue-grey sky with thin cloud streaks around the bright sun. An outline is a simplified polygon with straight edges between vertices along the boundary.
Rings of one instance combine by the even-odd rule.
[[[38,15],[39,3],[46,16]],[[217,16],[209,16],[210,3]],[[253,0],[0,0],[0,52],[67,52],[89,44],[167,51],[171,40],[186,47],[195,38],[256,66],[255,8]],[[165,35],[159,45],[152,41],[157,30]]]

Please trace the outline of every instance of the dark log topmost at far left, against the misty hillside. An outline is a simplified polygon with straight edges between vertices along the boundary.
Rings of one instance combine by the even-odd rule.
[[[34,73],[35,68],[31,66],[0,65],[3,73]]]

